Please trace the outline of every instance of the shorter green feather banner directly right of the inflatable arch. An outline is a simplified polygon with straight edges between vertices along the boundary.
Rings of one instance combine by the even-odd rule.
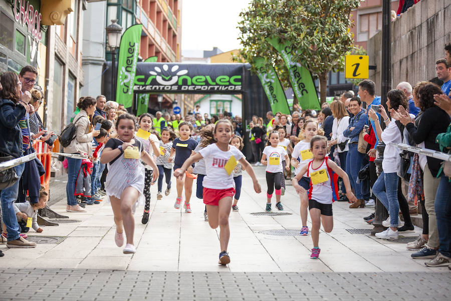
[[[282,114],[290,114],[288,108],[287,97],[284,89],[277,76],[276,70],[271,66],[269,70],[265,67],[265,59],[257,57],[254,59],[254,65],[257,68],[257,75],[262,82],[265,94],[271,104],[273,113],[281,112]]]

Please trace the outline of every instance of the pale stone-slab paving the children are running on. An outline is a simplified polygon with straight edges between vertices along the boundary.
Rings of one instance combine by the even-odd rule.
[[[362,217],[373,209],[349,209],[343,202],[333,205],[332,233],[320,234],[320,259],[310,259],[312,240],[310,235],[298,234],[297,230],[301,228],[299,199],[291,186],[282,197],[285,207],[282,213],[291,215],[252,214],[264,212],[266,204],[265,170],[263,167],[255,170],[263,192],[257,195],[250,177],[244,173],[243,191],[238,203],[240,211],[231,212],[230,217],[229,252],[232,262],[226,267],[217,264],[219,230],[212,230],[203,221],[203,203],[195,198],[195,193],[191,198],[193,213],[185,214],[183,209],[173,208],[176,196],[173,181],[171,194],[159,201],[156,200],[156,185],[152,186],[151,216],[147,225],[141,224],[143,206],[138,208],[135,214],[136,254],[123,254],[122,249],[116,247],[113,213],[106,201],[87,206],[86,213],[67,213],[65,200],[62,200],[51,208],[78,222],[44,227],[43,233],[33,230],[28,233],[30,236],[60,237],[62,240],[58,244],[40,243],[34,249],[7,249],[6,245],[0,245],[5,252],[5,256],[0,258],[0,268],[282,273],[449,271],[446,267],[429,268],[424,265],[424,260],[411,259],[411,251],[405,248],[408,239],[400,240],[401,243],[375,239],[369,234],[351,234],[350,231],[355,229],[372,228]],[[273,209],[277,211],[274,206]],[[277,231],[265,232],[270,230],[289,233],[280,236],[269,235],[281,234]],[[416,228],[416,233],[406,235],[412,240],[420,231]],[[276,289],[276,286],[271,289]]]

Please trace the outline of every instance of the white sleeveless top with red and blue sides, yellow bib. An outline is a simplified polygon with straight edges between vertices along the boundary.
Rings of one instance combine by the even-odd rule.
[[[325,157],[317,169],[312,167],[312,160],[307,170],[307,177],[310,177],[309,200],[315,200],[321,204],[333,202],[334,173],[327,165],[327,160],[328,157]]]

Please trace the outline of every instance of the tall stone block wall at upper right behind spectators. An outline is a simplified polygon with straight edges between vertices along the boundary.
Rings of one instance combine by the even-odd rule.
[[[451,43],[451,0],[421,0],[392,25],[392,84],[401,81],[412,86],[436,77],[435,61],[444,58],[444,46]],[[369,77],[380,94],[382,32],[368,41]]]

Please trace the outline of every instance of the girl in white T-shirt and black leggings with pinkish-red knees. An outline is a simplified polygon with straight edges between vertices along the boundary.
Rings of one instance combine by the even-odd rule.
[[[266,165],[266,183],[268,184],[268,191],[266,192],[267,203],[266,211],[271,211],[271,198],[273,197],[274,188],[276,189],[276,208],[284,210],[284,206],[280,202],[281,182],[283,175],[282,158],[286,162],[290,162],[288,154],[282,146],[279,146],[280,133],[276,130],[270,132],[268,143],[262,154],[262,164]],[[268,159],[268,160],[267,160]],[[285,167],[290,169],[290,163]]]

